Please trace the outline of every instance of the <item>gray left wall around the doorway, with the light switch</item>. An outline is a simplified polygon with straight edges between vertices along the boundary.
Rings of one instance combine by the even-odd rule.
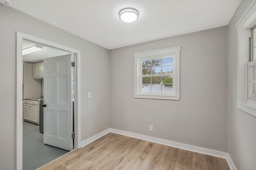
[[[109,50],[0,4],[0,169],[15,169],[16,31],[81,51],[81,140],[110,127]],[[87,92],[92,97],[87,98]],[[21,120],[22,121],[22,120]]]

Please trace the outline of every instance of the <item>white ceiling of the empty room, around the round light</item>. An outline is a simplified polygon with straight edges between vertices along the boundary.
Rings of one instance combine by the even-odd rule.
[[[12,0],[12,8],[107,49],[226,26],[241,0]],[[122,8],[139,18],[120,21]]]

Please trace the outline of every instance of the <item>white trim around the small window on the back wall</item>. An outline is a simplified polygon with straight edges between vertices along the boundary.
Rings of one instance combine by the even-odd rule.
[[[172,47],[166,49],[158,49],[141,53],[134,53],[134,97],[144,99],[164,99],[179,100],[180,99],[180,49],[181,47]],[[140,61],[144,58],[152,57],[152,59],[164,57],[166,55],[175,55],[174,62],[174,93],[140,93]]]

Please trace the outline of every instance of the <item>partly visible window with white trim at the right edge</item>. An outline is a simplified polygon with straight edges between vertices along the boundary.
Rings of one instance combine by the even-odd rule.
[[[238,38],[237,107],[256,117],[256,1],[236,24]]]

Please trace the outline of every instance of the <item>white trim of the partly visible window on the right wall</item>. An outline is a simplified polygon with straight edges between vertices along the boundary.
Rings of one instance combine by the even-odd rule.
[[[237,62],[237,107],[256,117],[256,102],[248,100],[248,61],[249,41],[247,30],[256,24],[256,0],[250,4],[242,18],[236,24],[238,32],[238,62]]]

